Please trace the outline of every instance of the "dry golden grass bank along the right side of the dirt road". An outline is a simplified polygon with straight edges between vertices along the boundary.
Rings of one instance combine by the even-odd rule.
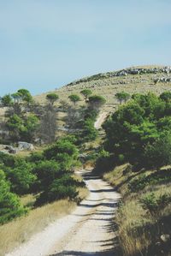
[[[155,193],[155,196],[164,193],[171,194],[171,186],[168,184],[150,185],[145,187],[139,193],[131,193],[128,188],[128,182],[140,173],[127,172],[127,164],[115,167],[115,170],[104,175],[104,179],[110,182],[116,188],[120,188],[123,195],[121,207],[117,211],[115,222],[118,224],[118,232],[121,242],[122,253],[125,256],[133,255],[154,255],[147,253],[149,247],[156,241],[157,234],[160,230],[162,234],[170,232],[168,221],[163,218],[167,217],[171,222],[171,205],[163,208],[162,215],[158,217],[157,222],[162,218],[162,225],[156,224],[156,218],[151,217],[140,205],[139,199],[147,193]],[[146,171],[146,175],[154,173],[154,170]],[[159,236],[160,237],[160,236]],[[168,254],[164,254],[167,256]]]

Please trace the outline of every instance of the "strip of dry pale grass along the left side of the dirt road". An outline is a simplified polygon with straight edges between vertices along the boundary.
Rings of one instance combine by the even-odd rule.
[[[81,181],[80,176],[75,176]],[[85,199],[89,191],[87,188],[78,188],[80,200]],[[56,221],[57,218],[68,215],[74,211],[77,203],[68,199],[61,199],[54,203],[32,208],[36,196],[28,194],[21,197],[21,202],[30,208],[26,216],[0,226],[0,256],[11,252],[15,247],[19,247],[23,242],[42,231],[48,224]]]

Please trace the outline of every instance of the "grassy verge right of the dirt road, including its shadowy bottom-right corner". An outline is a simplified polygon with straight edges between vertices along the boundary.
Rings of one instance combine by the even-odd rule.
[[[143,171],[150,182],[151,176],[154,178],[154,183],[146,183],[143,189],[132,192],[129,184],[133,179],[139,182],[142,172],[127,171],[127,166],[129,165],[122,164],[103,176],[115,188],[119,188],[123,196],[115,217],[122,253],[124,256],[168,256],[171,252],[171,243],[170,240],[162,241],[161,235],[170,235],[171,238],[171,204],[163,207],[160,214],[152,216],[142,207],[141,199],[151,193],[156,198],[164,194],[171,195],[170,178],[162,182],[161,178],[156,180],[158,171]],[[161,174],[164,171],[166,175],[166,170],[167,168],[160,170]]]

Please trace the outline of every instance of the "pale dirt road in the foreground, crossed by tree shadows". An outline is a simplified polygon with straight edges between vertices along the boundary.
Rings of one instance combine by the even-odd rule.
[[[8,256],[115,255],[113,217],[120,195],[90,171],[83,176],[89,197]]]

